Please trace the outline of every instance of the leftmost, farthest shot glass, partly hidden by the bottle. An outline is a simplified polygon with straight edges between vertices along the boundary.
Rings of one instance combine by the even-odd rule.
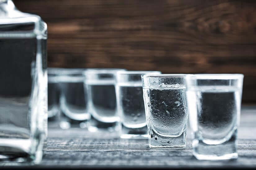
[[[60,113],[60,68],[48,68],[48,121],[55,121]]]

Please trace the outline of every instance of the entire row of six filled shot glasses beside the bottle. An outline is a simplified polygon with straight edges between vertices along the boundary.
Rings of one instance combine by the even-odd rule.
[[[49,68],[48,120],[182,148],[189,118],[197,159],[234,159],[242,85],[242,74]]]

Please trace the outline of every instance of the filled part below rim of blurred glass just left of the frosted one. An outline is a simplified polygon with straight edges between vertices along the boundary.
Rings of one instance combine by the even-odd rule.
[[[119,85],[121,138],[148,138],[143,89],[140,85]]]

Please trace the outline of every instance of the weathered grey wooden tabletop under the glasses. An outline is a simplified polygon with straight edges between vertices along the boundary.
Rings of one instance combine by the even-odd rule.
[[[121,139],[86,129],[61,130],[49,122],[47,148],[35,168],[256,168],[256,106],[243,106],[238,129],[238,159],[197,160],[191,131],[186,148],[149,148],[148,140]]]

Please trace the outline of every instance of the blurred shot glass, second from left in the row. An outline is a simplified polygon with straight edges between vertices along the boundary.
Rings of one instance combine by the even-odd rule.
[[[87,128],[88,113],[87,90],[83,86],[85,69],[62,69],[58,78],[60,94],[60,127]]]

